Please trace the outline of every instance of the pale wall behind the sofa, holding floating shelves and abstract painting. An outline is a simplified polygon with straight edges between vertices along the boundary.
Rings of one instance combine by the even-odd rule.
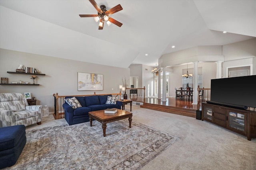
[[[103,90],[96,91],[96,94],[118,93],[120,91],[119,84],[122,84],[122,77],[128,79],[130,77],[129,68],[0,49],[0,77],[8,77],[9,83],[19,82],[19,80],[32,83],[30,75],[7,73],[7,71],[15,72],[19,64],[37,68],[42,74],[46,74],[46,76],[36,78],[36,84],[40,84],[40,86],[0,85],[0,93],[18,92],[23,94],[30,92],[32,97],[37,98],[36,104],[47,105],[50,111],[54,111],[54,97],[52,95],[56,92],[60,96],[94,94],[94,91],[78,91],[78,72],[103,74]]]

